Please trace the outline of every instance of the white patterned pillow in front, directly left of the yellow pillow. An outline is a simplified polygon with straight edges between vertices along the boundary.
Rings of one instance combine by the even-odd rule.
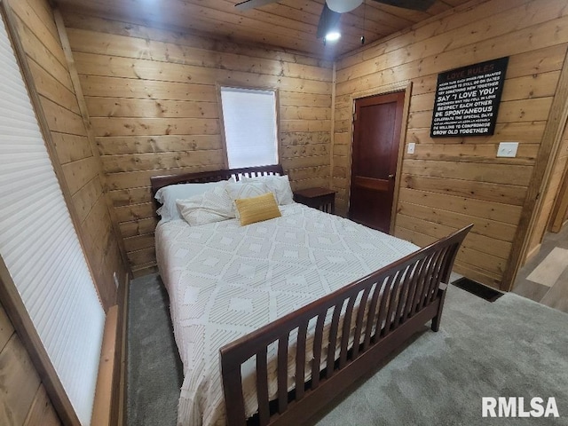
[[[189,225],[205,225],[232,219],[233,200],[225,185],[217,185],[211,191],[195,195],[187,200],[177,200],[177,208]]]

